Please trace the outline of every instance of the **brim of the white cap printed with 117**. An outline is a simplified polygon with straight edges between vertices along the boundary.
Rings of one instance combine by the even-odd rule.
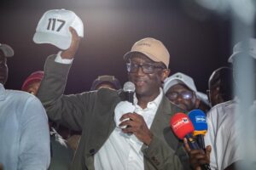
[[[71,44],[71,37],[62,37],[56,34],[36,32],[33,37],[35,43],[50,43],[57,48],[67,49]]]

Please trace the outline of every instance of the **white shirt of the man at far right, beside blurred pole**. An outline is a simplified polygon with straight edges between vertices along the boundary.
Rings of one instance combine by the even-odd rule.
[[[205,143],[212,146],[210,156],[212,169],[222,170],[242,159],[236,120],[235,101],[215,105],[207,113],[208,131]]]

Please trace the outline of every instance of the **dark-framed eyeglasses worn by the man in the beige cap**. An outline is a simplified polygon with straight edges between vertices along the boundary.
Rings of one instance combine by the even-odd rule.
[[[127,71],[131,73],[135,73],[138,71],[139,67],[143,69],[143,73],[152,74],[155,69],[165,69],[163,66],[154,65],[151,63],[144,63],[143,65],[138,65],[136,63],[126,63]]]

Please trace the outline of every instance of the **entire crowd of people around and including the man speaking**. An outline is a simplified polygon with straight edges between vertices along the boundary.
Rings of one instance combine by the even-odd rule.
[[[170,76],[168,49],[146,37],[123,57],[128,79],[135,85],[131,102],[119,80],[110,75],[97,77],[89,92],[66,95],[80,42],[72,27],[70,32],[70,47],[50,55],[44,71],[31,73],[20,91],[4,88],[7,59],[14,51],[0,44],[1,170],[198,170],[205,164],[219,170],[256,169],[256,154],[244,152],[236,126],[241,103],[233,91],[236,67],[235,73],[228,67],[213,71],[209,90],[202,93],[192,77],[181,72]],[[256,39],[238,42],[229,61],[237,65],[249,59],[255,65],[255,51]],[[255,114],[255,102],[249,106]],[[177,139],[169,124],[176,113],[195,109],[207,115],[205,149],[190,148],[187,139]],[[252,150],[254,139],[247,143]]]

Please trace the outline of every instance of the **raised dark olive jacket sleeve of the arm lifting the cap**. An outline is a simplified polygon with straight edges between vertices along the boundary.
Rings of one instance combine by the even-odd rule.
[[[55,55],[50,55],[44,65],[44,78],[38,89],[38,99],[50,120],[81,131],[83,116],[91,110],[96,92],[64,95],[70,67],[71,64],[55,62]]]

